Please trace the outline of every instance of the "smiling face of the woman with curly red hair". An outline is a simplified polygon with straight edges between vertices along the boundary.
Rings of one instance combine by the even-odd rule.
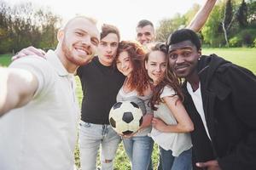
[[[116,66],[125,77],[131,76],[131,71],[133,71],[133,67],[131,64],[131,58],[126,51],[121,52],[119,56],[117,56]]]

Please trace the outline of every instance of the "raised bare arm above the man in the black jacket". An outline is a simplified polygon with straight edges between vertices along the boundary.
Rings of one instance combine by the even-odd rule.
[[[206,3],[204,3],[199,11],[195,14],[195,17],[193,18],[193,20],[191,20],[189,26],[187,26],[186,28],[195,32],[200,31],[207,22],[209,14],[211,13],[216,1],[217,0],[207,0]]]

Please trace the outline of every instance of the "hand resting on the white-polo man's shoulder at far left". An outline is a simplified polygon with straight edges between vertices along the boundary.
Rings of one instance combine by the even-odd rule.
[[[18,54],[15,54],[15,56],[12,57],[12,60],[19,59],[21,57],[26,57],[26,55],[38,55],[39,57],[43,57],[45,55],[44,50],[34,48],[32,46],[28,48],[23,48]]]

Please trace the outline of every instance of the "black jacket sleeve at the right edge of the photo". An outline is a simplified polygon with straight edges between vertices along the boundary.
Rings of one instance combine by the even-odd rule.
[[[230,65],[222,78],[231,89],[235,116],[247,133],[235,150],[218,159],[219,165],[222,169],[256,169],[256,77],[245,68]]]

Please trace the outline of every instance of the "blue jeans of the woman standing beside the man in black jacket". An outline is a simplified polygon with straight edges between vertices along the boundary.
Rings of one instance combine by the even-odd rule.
[[[192,148],[184,150],[179,156],[172,156],[172,150],[160,147],[160,161],[162,170],[191,170]]]

